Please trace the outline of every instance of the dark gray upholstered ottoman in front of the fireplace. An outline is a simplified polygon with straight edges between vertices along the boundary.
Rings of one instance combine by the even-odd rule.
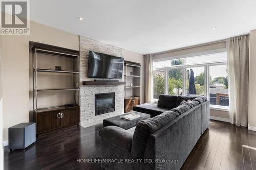
[[[122,118],[124,115],[132,114],[132,113],[140,114],[140,117],[135,118],[133,120],[126,120],[126,119]],[[129,113],[125,113],[125,114],[121,114],[121,115],[118,115],[118,116],[114,116],[114,117],[104,119],[103,120],[103,127],[118,126],[118,127],[123,128],[123,129],[126,130],[126,129],[130,129],[132,127],[135,127],[141,120],[144,120],[144,119],[147,119],[147,118],[150,118],[149,114],[140,113],[140,112],[129,112]]]

